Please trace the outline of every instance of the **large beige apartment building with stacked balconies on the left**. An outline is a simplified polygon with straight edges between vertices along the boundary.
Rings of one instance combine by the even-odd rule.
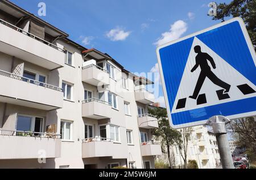
[[[0,2],[0,168],[154,168],[150,80]]]

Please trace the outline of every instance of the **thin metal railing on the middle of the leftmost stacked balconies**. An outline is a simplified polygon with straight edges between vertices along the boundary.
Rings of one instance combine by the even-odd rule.
[[[31,83],[31,84],[35,84],[35,85],[40,85],[42,87],[45,87],[45,88],[48,88],[48,89],[53,89],[55,91],[63,92],[62,88],[56,87],[55,85],[42,83],[42,82],[39,82],[39,81],[34,80],[34,79],[30,79],[30,78],[25,78],[23,76],[15,75],[11,72],[0,70],[0,75],[6,76],[6,77],[9,77],[9,78],[13,78],[13,79],[17,79],[17,80],[21,80],[23,82],[27,82],[27,83]]]

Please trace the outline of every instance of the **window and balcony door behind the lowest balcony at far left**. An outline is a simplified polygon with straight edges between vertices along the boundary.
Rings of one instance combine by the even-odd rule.
[[[18,115],[17,123],[16,123],[17,131],[43,132],[43,126],[44,126],[43,118]],[[35,135],[40,135],[40,134],[35,134]]]

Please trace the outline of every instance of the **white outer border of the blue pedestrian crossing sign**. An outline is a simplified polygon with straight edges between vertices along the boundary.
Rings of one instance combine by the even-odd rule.
[[[166,46],[175,44],[176,42],[180,42],[180,41],[186,40],[187,38],[191,38],[191,37],[200,35],[201,33],[208,32],[208,31],[210,31],[212,29],[215,29],[215,28],[218,28],[218,27],[221,27],[223,25],[226,25],[226,24],[229,24],[229,23],[233,23],[233,22],[236,22],[236,21],[240,24],[240,27],[241,27],[242,32],[243,32],[243,36],[245,36],[245,40],[246,40],[247,46],[249,47],[249,50],[250,50],[250,53],[251,53],[251,57],[253,57],[253,61],[254,61],[255,67],[256,67],[256,53],[255,53],[255,50],[253,48],[253,43],[250,40],[249,34],[248,34],[248,32],[246,30],[246,27],[245,27],[245,23],[243,23],[242,18],[238,18],[238,17],[230,19],[230,20],[227,20],[226,22],[223,22],[223,23],[218,23],[216,25],[213,25],[212,27],[203,29],[203,30],[201,30],[199,32],[195,32],[195,33],[193,33],[191,35],[188,35],[188,36],[185,36],[183,38],[179,38],[178,40],[171,41],[171,42],[168,42],[166,44],[160,45],[156,49],[156,54],[158,56],[158,64],[159,64],[160,77],[161,77],[162,85],[163,85],[164,100],[166,101],[169,123],[170,123],[170,126],[172,128],[184,128],[184,127],[205,125],[205,123],[207,122],[208,119],[205,119],[204,121],[196,121],[196,122],[191,122],[191,123],[184,123],[184,124],[181,124],[181,125],[173,125],[172,124],[171,110],[170,110],[169,101],[168,101],[168,98],[167,98],[166,83],[164,82],[164,75],[163,75],[163,70],[162,70],[162,63],[160,61],[159,50],[164,48],[164,47],[166,47]],[[256,114],[256,111],[249,112],[249,113],[241,113],[241,114],[229,115],[229,116],[227,116],[227,118],[234,119],[234,118],[241,118],[241,117],[249,117],[249,116],[255,115],[255,114]],[[220,114],[216,114],[216,115],[220,115]]]

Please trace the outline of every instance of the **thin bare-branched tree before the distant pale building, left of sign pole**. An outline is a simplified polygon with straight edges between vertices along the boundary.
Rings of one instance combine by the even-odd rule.
[[[183,158],[185,169],[187,168],[188,142],[189,140],[191,140],[191,133],[191,127],[182,128],[180,129],[181,137],[176,136],[176,138],[174,139],[175,145],[179,148],[180,155]]]

